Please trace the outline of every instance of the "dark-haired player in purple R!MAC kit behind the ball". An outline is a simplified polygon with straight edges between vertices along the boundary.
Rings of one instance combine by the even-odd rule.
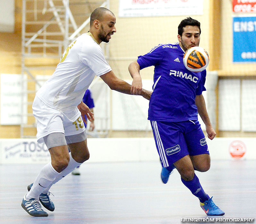
[[[212,197],[205,193],[194,172],[206,172],[210,168],[209,149],[198,122],[198,113],[206,125],[208,138],[212,140],[216,135],[202,95],[206,90],[206,71],[191,72],[183,65],[185,51],[199,46],[200,34],[200,22],[188,17],[178,26],[178,43],[159,44],[139,56],[129,65],[133,78],[131,92],[140,94],[140,70],[155,66],[148,119],[162,164],[161,179],[166,184],[176,168],[181,181],[199,198],[207,215],[224,215]]]

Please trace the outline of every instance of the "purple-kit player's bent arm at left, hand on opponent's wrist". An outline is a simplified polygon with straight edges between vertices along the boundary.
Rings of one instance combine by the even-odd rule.
[[[133,61],[128,67],[130,75],[133,78],[131,93],[134,94],[134,95],[139,95],[141,93],[141,90],[142,90],[140,69],[141,69],[140,65],[138,64],[137,61]]]

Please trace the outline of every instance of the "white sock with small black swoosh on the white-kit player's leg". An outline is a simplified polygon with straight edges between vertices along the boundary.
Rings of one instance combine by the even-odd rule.
[[[51,163],[46,164],[39,172],[33,183],[26,199],[39,198],[39,195],[51,184],[51,182],[59,175]]]

